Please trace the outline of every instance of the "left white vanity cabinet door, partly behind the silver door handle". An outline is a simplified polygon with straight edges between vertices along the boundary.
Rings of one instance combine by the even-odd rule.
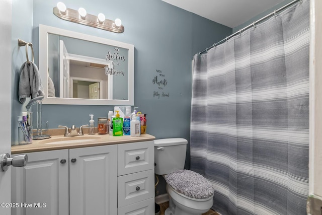
[[[12,167],[12,214],[67,215],[68,150],[27,155],[25,167]]]

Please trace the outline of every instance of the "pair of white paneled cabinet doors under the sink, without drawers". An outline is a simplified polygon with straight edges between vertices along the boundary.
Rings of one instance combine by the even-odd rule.
[[[116,145],[27,154],[27,166],[12,170],[12,214],[117,214]]]

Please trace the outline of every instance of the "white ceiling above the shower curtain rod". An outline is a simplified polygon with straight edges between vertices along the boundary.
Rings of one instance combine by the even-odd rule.
[[[284,0],[162,0],[214,22],[234,28]]]

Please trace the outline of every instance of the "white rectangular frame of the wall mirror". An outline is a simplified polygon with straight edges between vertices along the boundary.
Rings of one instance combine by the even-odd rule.
[[[129,65],[128,65],[128,100],[108,100],[108,99],[73,99],[73,98],[53,98],[47,97],[48,94],[48,34],[56,34],[76,39],[87,40],[105,45],[128,49]],[[45,92],[43,104],[60,104],[60,105],[134,105],[134,45],[123,43],[115,40],[105,39],[101,37],[91,36],[83,33],[73,32],[60,28],[46,25],[39,25],[39,73]]]

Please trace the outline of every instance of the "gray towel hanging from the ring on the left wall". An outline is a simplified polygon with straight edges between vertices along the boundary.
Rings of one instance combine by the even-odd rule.
[[[26,98],[31,96],[31,100],[26,105],[27,110],[29,110],[32,105],[40,103],[44,99],[44,95],[37,65],[31,61],[25,62],[20,68],[19,101],[24,104]]]

